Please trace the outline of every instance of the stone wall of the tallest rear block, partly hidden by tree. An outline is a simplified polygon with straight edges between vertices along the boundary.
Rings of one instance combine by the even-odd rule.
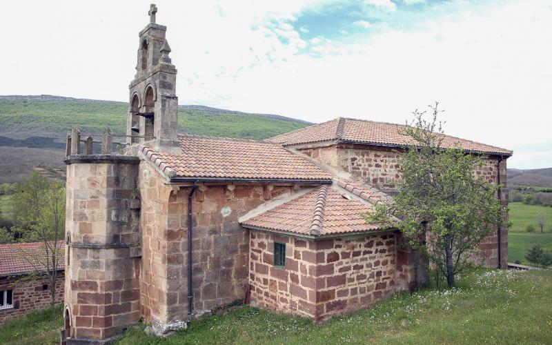
[[[400,182],[400,153],[391,148],[369,145],[333,145],[321,148],[304,148],[301,151],[324,164],[349,172],[353,179],[359,179],[382,190],[396,190]],[[483,166],[475,169],[476,176],[483,177],[493,185],[497,185],[498,157],[482,156]],[[506,160],[500,167],[500,184],[506,186]],[[507,191],[502,193],[502,206],[507,208]],[[507,214],[504,213],[507,222]],[[502,264],[507,266],[508,229],[502,228]],[[491,233],[480,245],[480,253],[475,260],[487,267],[498,266],[498,236]]]

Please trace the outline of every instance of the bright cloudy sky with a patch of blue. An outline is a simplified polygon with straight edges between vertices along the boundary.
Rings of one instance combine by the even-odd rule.
[[[156,1],[180,104],[404,124],[552,167],[552,0]],[[128,101],[150,1],[3,1],[0,95]]]

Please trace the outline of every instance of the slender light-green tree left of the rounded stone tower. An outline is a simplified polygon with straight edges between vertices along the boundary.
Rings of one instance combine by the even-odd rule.
[[[38,250],[20,246],[19,256],[34,267],[34,272],[29,277],[48,277],[50,304],[55,304],[59,262],[65,250],[59,244],[65,228],[65,188],[60,182],[48,181],[46,177],[34,172],[28,181],[19,184],[12,195],[12,204],[14,226],[11,230],[19,234],[18,241],[41,242]]]

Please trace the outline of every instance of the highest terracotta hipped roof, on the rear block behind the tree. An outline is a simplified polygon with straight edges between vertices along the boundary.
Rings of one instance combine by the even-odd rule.
[[[406,126],[400,124],[388,124],[385,122],[366,121],[338,117],[331,121],[309,126],[293,132],[284,133],[266,139],[268,142],[282,144],[284,146],[314,143],[317,141],[355,141],[366,144],[388,144],[390,146],[408,146],[409,137],[402,135],[400,130]],[[445,148],[462,146],[464,150],[486,153],[498,153],[511,155],[511,150],[497,148],[476,141],[444,136],[442,146]]]

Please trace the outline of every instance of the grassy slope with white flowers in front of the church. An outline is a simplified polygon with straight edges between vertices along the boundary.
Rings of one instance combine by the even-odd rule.
[[[117,344],[551,344],[551,305],[551,271],[478,270],[322,325],[245,306],[167,339],[141,325]]]

